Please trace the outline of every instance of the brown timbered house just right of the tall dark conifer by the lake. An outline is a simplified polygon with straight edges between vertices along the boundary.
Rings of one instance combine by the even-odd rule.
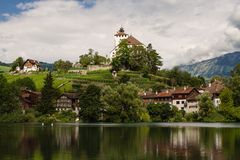
[[[57,98],[56,111],[73,111],[79,114],[79,94],[63,93]]]

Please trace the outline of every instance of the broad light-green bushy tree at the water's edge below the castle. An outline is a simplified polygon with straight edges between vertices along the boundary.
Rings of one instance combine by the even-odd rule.
[[[109,86],[102,91],[104,119],[107,122],[141,122],[150,119],[143,105],[139,89],[131,83]]]

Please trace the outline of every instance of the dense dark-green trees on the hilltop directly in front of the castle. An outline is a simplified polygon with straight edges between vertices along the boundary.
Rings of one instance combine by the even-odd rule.
[[[143,74],[155,74],[162,66],[161,57],[152,49],[151,44],[144,46],[128,46],[126,40],[121,41],[112,60],[112,70],[141,71]]]

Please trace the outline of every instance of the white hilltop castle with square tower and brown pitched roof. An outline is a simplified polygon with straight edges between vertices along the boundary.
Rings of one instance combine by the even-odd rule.
[[[139,40],[137,40],[134,36],[125,33],[123,27],[119,29],[119,31],[114,35],[115,47],[110,52],[110,58],[114,58],[116,56],[116,51],[118,46],[122,40],[126,40],[129,47],[132,46],[144,46]]]

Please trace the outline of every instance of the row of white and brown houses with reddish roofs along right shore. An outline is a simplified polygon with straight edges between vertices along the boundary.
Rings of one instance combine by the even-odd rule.
[[[208,92],[212,95],[212,101],[215,107],[221,103],[219,95],[224,89],[222,82],[215,80],[202,89],[194,87],[178,87],[174,89],[164,90],[162,92],[145,92],[142,94],[142,99],[145,104],[149,103],[169,103],[176,106],[179,110],[184,110],[186,113],[197,112],[198,96]]]

